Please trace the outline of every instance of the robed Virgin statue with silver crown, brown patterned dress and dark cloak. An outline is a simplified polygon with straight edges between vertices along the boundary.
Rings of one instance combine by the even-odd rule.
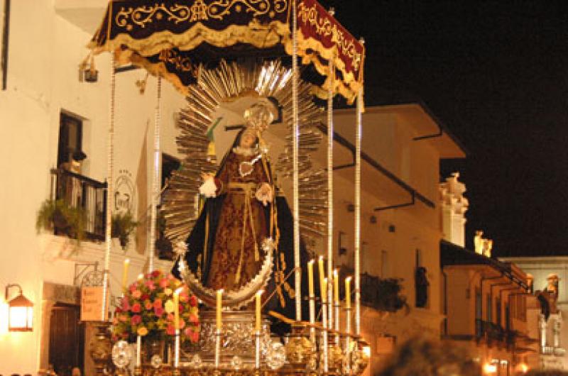
[[[266,245],[275,246],[278,211],[275,186],[261,134],[273,121],[258,102],[244,114],[239,131],[215,175],[203,174],[204,206],[187,238],[185,260],[202,284],[226,292],[253,279]],[[174,272],[177,271],[177,265]]]

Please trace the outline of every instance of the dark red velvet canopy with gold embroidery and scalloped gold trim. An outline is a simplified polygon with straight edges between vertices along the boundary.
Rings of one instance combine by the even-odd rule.
[[[200,63],[292,55],[293,0],[115,0],[89,43],[94,53],[146,67],[187,94]],[[297,54],[323,89],[352,102],[363,84],[365,48],[315,0],[297,0]],[[324,96],[325,90],[316,94]]]

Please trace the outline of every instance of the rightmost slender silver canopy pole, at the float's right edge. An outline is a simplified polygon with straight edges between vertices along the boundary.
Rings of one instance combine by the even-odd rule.
[[[357,93],[355,130],[355,334],[361,334],[361,136],[363,88]]]

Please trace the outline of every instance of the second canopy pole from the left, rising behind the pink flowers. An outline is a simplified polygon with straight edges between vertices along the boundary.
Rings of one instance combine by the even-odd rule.
[[[158,217],[158,197],[160,196],[160,102],[162,101],[162,77],[158,76],[156,87],[155,119],[154,119],[154,168],[152,171],[152,202],[150,214],[150,245],[148,247],[148,272],[154,270],[155,228]]]

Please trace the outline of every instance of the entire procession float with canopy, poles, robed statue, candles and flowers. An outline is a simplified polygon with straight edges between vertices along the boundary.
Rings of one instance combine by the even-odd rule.
[[[171,274],[154,270],[151,238],[148,272],[123,282],[112,321],[102,304],[100,346],[93,353],[98,372],[364,372],[369,353],[360,336],[363,41],[315,0],[114,0],[89,48],[92,56],[110,52],[113,64],[109,185],[119,107],[116,68],[143,67],[158,81],[150,233],[155,236],[159,200],[176,254]],[[160,192],[163,80],[185,96],[187,106],[177,119],[184,159]],[[335,96],[356,104],[354,275],[345,278],[334,270],[332,252]],[[218,159],[215,119],[228,110],[241,114],[241,121],[225,127],[234,142]],[[272,127],[282,130],[271,134],[284,146],[271,158],[264,133]],[[327,166],[316,167],[310,153],[326,140]],[[109,294],[110,223],[107,210],[103,302]],[[317,244],[324,249],[315,249]]]

